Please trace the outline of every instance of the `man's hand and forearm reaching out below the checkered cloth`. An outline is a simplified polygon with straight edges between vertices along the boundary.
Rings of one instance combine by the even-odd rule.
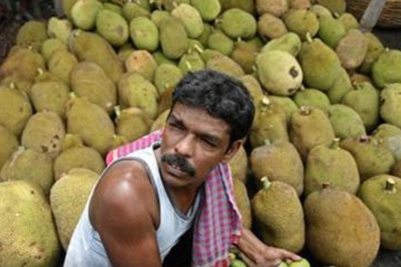
[[[282,260],[301,260],[302,257],[285,249],[267,246],[250,230],[243,228],[237,244],[243,260],[248,266],[276,267]]]

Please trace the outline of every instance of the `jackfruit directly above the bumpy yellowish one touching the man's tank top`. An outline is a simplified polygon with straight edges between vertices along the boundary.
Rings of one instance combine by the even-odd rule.
[[[75,168],[85,168],[101,174],[105,167],[104,160],[97,150],[77,146],[67,149],[54,161],[54,177],[58,180]]]

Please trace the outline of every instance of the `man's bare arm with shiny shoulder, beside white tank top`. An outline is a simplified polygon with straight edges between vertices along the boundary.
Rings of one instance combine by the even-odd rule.
[[[121,162],[105,174],[90,217],[113,266],[161,266],[157,214],[154,189],[139,163]]]

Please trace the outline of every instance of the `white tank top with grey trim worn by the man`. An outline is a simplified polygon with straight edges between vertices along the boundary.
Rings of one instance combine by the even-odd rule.
[[[197,194],[194,204],[187,214],[183,214],[178,210],[168,192],[165,190],[160,177],[159,167],[154,155],[156,146],[158,146],[158,144],[154,144],[144,150],[135,151],[128,154],[126,157],[118,159],[106,168],[100,179],[112,165],[119,161],[136,160],[145,168],[159,202],[160,223],[156,234],[160,257],[163,261],[171,248],[179,241],[181,235],[192,226],[197,215],[198,207],[202,201],[202,194]],[[111,266],[99,233],[93,228],[89,220],[88,207],[92,194],[93,189],[71,237],[64,261],[64,266],[66,267]]]

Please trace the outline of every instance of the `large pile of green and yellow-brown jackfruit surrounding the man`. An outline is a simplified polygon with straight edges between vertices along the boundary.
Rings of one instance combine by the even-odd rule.
[[[401,51],[345,0],[61,4],[0,66],[0,266],[62,264],[107,153],[163,127],[201,69],[253,96],[230,162],[246,227],[321,265],[401,250]]]

